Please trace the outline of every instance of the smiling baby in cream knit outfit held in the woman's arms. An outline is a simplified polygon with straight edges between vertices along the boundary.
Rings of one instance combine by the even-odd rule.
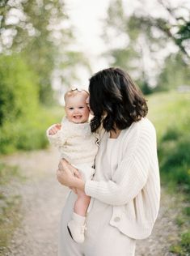
[[[50,126],[47,130],[49,142],[59,148],[61,159],[72,164],[85,181],[95,173],[95,156],[98,151],[98,136],[91,133],[88,122],[90,111],[87,107],[88,92],[71,89],[65,93],[65,118],[61,125]],[[74,203],[72,220],[68,223],[70,236],[74,241],[82,243],[85,239],[87,208],[91,198],[78,191]]]

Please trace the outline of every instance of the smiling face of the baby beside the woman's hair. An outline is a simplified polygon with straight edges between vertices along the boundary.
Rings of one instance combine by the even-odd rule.
[[[81,92],[65,98],[65,114],[70,122],[77,124],[87,122],[90,112],[86,100],[87,96]]]

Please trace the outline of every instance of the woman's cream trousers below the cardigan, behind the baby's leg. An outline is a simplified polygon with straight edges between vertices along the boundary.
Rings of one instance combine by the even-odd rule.
[[[70,192],[61,214],[58,256],[133,256],[135,240],[109,224],[112,206],[94,200],[87,214],[85,241],[78,244],[70,237],[67,224],[71,219],[76,195]]]

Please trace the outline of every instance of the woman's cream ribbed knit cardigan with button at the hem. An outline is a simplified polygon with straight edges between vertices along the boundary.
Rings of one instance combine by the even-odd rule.
[[[104,180],[101,169],[109,136],[103,133],[95,160],[95,181],[86,181],[85,192],[112,205],[112,226],[129,237],[143,239],[152,231],[160,200],[156,134],[147,118],[133,122],[123,132],[125,134],[117,138],[120,140],[115,156],[118,165],[111,170],[109,181]]]

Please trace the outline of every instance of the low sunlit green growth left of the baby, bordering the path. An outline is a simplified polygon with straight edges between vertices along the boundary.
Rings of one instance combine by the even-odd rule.
[[[5,123],[0,128],[0,153],[10,154],[17,150],[35,150],[49,146],[45,130],[61,121],[61,107],[39,107],[30,116],[20,118],[14,125]]]

